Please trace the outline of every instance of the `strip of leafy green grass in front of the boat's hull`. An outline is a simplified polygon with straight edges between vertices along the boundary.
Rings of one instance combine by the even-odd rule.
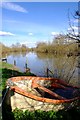
[[[16,108],[12,113],[9,113],[9,111],[7,111],[7,118],[8,120],[79,120],[80,110],[72,109],[68,111],[61,110],[57,112],[53,110],[22,111]]]

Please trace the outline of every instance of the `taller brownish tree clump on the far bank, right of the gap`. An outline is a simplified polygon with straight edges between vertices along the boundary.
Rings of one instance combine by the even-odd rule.
[[[56,36],[52,42],[39,42],[35,48],[36,52],[54,54],[78,54],[78,43],[66,35]]]

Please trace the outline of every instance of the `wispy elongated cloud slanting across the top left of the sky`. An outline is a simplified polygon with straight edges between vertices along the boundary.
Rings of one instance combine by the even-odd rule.
[[[5,9],[9,9],[17,12],[24,12],[24,13],[28,12],[26,9],[15,3],[3,2],[2,4],[0,3],[0,6]]]

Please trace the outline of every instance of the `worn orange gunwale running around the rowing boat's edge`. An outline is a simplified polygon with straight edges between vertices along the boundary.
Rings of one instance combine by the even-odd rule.
[[[36,79],[36,80],[35,80]],[[77,86],[72,86],[67,84],[66,82],[57,79],[57,78],[45,78],[45,77],[34,77],[34,76],[17,76],[17,77],[11,77],[8,80],[11,80],[12,82],[17,82],[17,81],[22,81],[22,80],[32,80],[32,83],[34,84],[34,82],[36,83],[38,80],[54,80],[54,83],[61,83],[62,85],[65,86],[70,86],[73,88],[79,88]],[[8,80],[7,80],[7,85],[8,85]],[[43,97],[39,97],[37,95],[33,95],[32,93],[26,92],[25,90],[21,89],[18,86],[10,86],[10,89],[14,92],[17,92],[23,96],[29,97],[31,99],[37,100],[37,101],[41,101],[41,102],[47,102],[47,103],[53,103],[53,104],[61,104],[61,103],[71,103],[75,100],[80,99],[80,96],[78,97],[74,97],[71,99],[49,99],[49,98],[43,98]]]

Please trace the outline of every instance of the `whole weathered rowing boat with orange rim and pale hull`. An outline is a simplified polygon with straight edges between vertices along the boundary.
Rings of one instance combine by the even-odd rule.
[[[7,86],[14,93],[9,95],[12,110],[60,110],[80,100],[79,87],[57,78],[18,76],[9,78]]]

